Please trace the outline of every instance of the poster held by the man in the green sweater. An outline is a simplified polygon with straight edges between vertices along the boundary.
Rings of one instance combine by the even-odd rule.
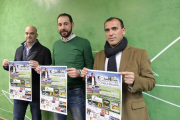
[[[66,66],[41,66],[41,110],[67,115],[66,69]]]

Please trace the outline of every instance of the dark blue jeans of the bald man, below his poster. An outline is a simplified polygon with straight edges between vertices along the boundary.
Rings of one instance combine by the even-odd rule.
[[[13,120],[24,120],[26,114],[26,108],[30,104],[30,110],[32,114],[32,120],[41,120],[40,101],[35,100],[33,102],[14,100]]]

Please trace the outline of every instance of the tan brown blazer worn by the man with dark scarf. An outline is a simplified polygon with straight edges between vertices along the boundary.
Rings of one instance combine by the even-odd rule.
[[[105,59],[104,50],[98,52],[93,69],[104,70]],[[142,91],[152,90],[155,86],[155,79],[147,52],[127,46],[122,52],[119,71],[129,71],[135,74],[132,89],[125,83],[122,86],[122,120],[149,120]]]

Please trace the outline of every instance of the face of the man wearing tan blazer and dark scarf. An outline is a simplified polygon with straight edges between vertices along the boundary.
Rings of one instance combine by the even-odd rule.
[[[122,28],[117,19],[106,22],[104,29],[106,40],[112,48],[116,47],[121,42],[123,35],[126,33],[126,28]]]

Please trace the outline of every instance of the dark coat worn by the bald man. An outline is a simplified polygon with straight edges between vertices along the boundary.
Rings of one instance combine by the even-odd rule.
[[[24,50],[24,42],[22,46],[20,46],[16,50],[14,61],[23,61],[23,50]],[[51,65],[51,52],[48,48],[42,46],[39,41],[37,41],[27,56],[26,61],[35,60],[38,61],[40,65]],[[8,70],[7,67],[4,69]],[[32,100],[40,99],[40,75],[32,69]]]

